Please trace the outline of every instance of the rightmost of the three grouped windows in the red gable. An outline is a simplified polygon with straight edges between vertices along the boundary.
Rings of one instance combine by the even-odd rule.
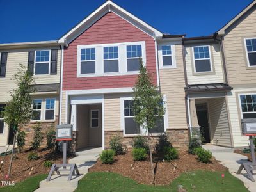
[[[140,68],[140,58],[142,57],[141,45],[128,45],[127,52],[127,71],[138,71]]]

